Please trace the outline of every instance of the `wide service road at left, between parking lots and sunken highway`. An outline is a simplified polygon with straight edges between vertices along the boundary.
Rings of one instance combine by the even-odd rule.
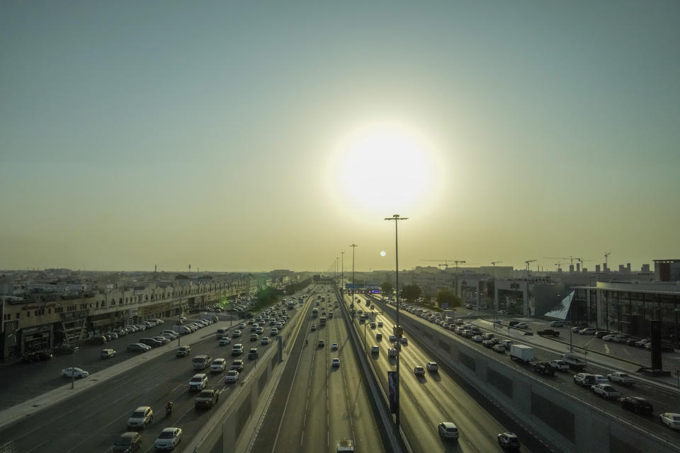
[[[283,329],[297,319],[301,308],[288,311],[291,318]],[[284,310],[285,311],[285,310]],[[164,326],[169,326],[166,323]],[[155,331],[164,328],[158,326]],[[162,346],[167,352],[147,362],[131,367],[128,372],[108,379],[101,385],[77,393],[62,403],[57,403],[44,411],[33,415],[25,423],[16,423],[0,430],[0,439],[14,441],[18,452],[107,452],[118,435],[127,431],[126,421],[130,413],[137,406],[151,406],[154,418],[150,425],[142,431],[141,452],[153,452],[153,442],[163,428],[176,426],[183,430],[183,443],[186,443],[203,427],[216,408],[224,404],[229,395],[237,389],[238,384],[225,384],[222,373],[212,374],[208,369],[195,370],[191,358],[200,355],[210,355],[213,358],[224,357],[231,365],[232,359],[243,359],[244,372],[240,379],[248,375],[254,367],[254,360],[247,359],[247,352],[251,347],[257,347],[260,355],[267,348],[277,348],[276,336],[271,337],[270,345],[261,345],[259,341],[250,342],[249,329],[244,329],[244,336],[239,338],[244,344],[244,354],[239,357],[230,355],[232,345],[237,343],[232,339],[232,345],[218,345],[215,332],[217,328],[229,328],[229,322],[213,323],[191,335],[200,335],[201,340],[191,345],[191,355],[175,357],[176,341]],[[234,324],[232,330],[237,325]],[[268,334],[271,326],[265,326]],[[148,332],[147,332],[148,334]],[[124,337],[125,338],[125,337]],[[183,337],[185,338],[185,337]],[[124,340],[125,341],[125,340]],[[127,343],[127,341],[125,341]],[[184,343],[183,343],[184,344]],[[148,352],[147,352],[148,353]],[[83,366],[87,368],[86,366]],[[220,389],[220,400],[215,408],[196,410],[194,398],[196,392],[187,389],[189,379],[198,372],[208,374],[208,388]],[[97,379],[91,374],[86,379]],[[76,382],[78,385],[79,382]],[[173,401],[174,407],[171,418],[164,418],[164,406],[167,401]]]

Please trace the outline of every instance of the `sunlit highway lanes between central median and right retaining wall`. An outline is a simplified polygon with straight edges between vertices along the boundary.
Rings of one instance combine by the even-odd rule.
[[[365,299],[358,296],[355,309],[367,310]],[[351,304],[351,296],[345,297],[346,306]],[[360,323],[359,316],[355,317],[353,326],[363,340],[364,332],[366,343],[370,350],[371,345],[378,345],[380,352],[370,354],[370,362],[373,365],[382,389],[387,394],[387,371],[396,370],[396,360],[387,357],[387,349],[390,348],[388,340],[392,334],[392,326],[395,325],[390,316],[375,314],[375,321],[382,321],[382,328],[375,329]],[[367,322],[370,323],[372,319]],[[382,340],[375,339],[376,333],[382,333]],[[409,445],[414,452],[500,452],[502,449],[497,443],[499,432],[512,431],[490,415],[487,410],[470,396],[455,380],[440,368],[438,373],[426,372],[424,377],[416,377],[413,370],[416,365],[424,366],[432,360],[418,345],[416,338],[408,338],[408,344],[402,345],[400,352],[400,421],[402,430],[408,439]],[[453,422],[458,426],[460,438],[458,442],[441,439],[438,435],[437,425],[440,422]],[[519,434],[519,433],[518,433]],[[520,436],[520,440],[523,437]],[[531,452],[526,445],[522,446],[523,452]],[[538,450],[534,450],[538,451]],[[547,451],[547,449],[545,450]]]

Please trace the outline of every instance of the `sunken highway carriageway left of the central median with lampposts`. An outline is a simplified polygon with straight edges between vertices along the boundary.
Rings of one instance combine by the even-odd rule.
[[[288,385],[282,379],[283,385],[276,390],[278,401],[285,402],[270,408],[251,451],[334,452],[335,442],[344,439],[352,440],[358,451],[385,451],[347,321],[336,308],[334,297],[330,304],[319,302],[317,306],[317,295],[326,294],[313,294],[312,306],[319,309],[319,317],[312,318],[312,306],[305,310],[307,321],[301,329],[304,335],[298,339],[299,353],[293,348],[289,359],[289,366],[294,368],[292,383]],[[327,326],[320,326],[324,304],[328,314],[334,311],[334,316],[327,317]],[[319,340],[325,344],[319,345]],[[338,344],[337,350],[331,350],[332,343]],[[336,357],[339,367],[331,365]]]

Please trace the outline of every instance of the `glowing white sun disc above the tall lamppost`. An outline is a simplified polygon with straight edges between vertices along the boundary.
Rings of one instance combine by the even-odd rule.
[[[341,202],[368,212],[408,210],[431,196],[436,164],[416,130],[380,122],[348,134],[336,153]]]

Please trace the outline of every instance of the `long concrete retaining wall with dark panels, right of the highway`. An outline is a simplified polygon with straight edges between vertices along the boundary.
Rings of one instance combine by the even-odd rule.
[[[392,316],[395,309],[381,304]],[[400,316],[404,330],[482,394],[560,452],[662,453],[680,451],[627,420],[562,389],[507,367],[429,323]]]

